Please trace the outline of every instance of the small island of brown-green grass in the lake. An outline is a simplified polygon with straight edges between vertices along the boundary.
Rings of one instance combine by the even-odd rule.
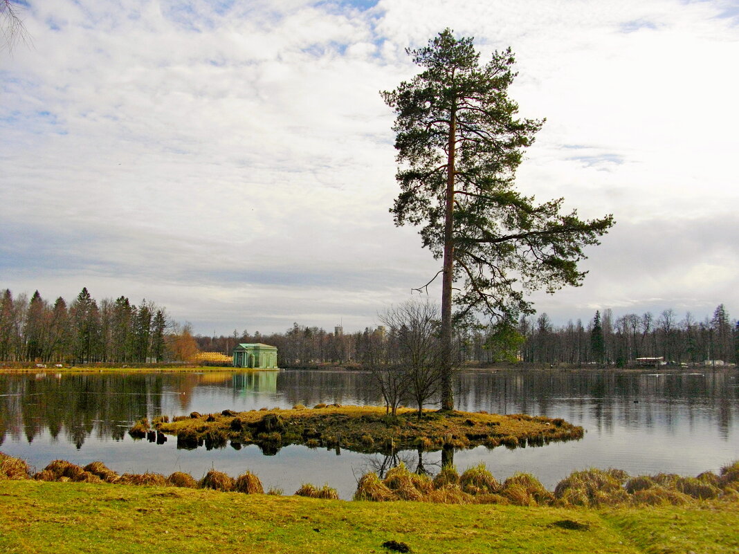
[[[395,415],[375,406],[294,406],[293,409],[253,410],[219,414],[156,417],[151,424],[140,420],[129,431],[132,437],[149,433],[177,436],[180,448],[220,448],[228,441],[256,444],[276,451],[283,445],[346,448],[357,452],[387,452],[416,448],[435,451],[445,447],[471,448],[485,445],[540,446],[556,440],[582,438],[582,427],[560,418],[525,414],[498,415],[452,411],[424,411],[423,417],[410,408]]]

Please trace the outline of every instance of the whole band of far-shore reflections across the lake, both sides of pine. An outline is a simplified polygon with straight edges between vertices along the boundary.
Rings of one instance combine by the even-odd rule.
[[[382,403],[364,372],[0,374],[0,444],[8,435],[31,442],[44,429],[77,445],[93,435],[120,440],[134,420],[162,413],[164,391],[177,396],[167,397],[167,410],[188,413],[199,386],[224,389],[234,397],[243,391],[265,394],[265,407],[275,395],[287,407]],[[700,375],[460,372],[455,397],[457,408],[469,411],[543,414],[573,423],[586,414],[606,433],[616,427],[670,432],[678,424],[709,422],[726,439],[738,411],[739,375],[735,370]]]

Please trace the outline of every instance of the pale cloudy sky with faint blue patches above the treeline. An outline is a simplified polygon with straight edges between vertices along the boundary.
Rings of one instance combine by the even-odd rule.
[[[377,323],[438,262],[395,228],[406,47],[451,27],[547,123],[517,183],[616,227],[556,323],[739,315],[735,0],[43,0],[0,51],[0,287],[203,334]],[[435,292],[433,292],[435,294]]]

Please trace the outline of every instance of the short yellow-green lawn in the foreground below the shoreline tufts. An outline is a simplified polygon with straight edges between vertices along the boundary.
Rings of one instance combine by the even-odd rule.
[[[735,553],[739,505],[592,510],[0,482],[7,553]]]

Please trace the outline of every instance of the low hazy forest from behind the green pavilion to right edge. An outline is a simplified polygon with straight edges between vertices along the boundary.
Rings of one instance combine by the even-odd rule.
[[[284,333],[261,335],[234,331],[231,336],[196,335],[199,349],[231,352],[237,343],[264,342],[277,346],[281,367],[311,363],[345,363],[361,360],[369,336],[378,329],[336,335],[313,326],[293,324]],[[678,319],[675,311],[658,316],[626,314],[613,317],[612,310],[596,312],[593,320],[569,321],[554,326],[546,313],[521,318],[515,329],[500,326],[467,326],[457,329],[457,361],[494,363],[522,360],[529,363],[572,366],[587,364],[627,366],[636,358],[664,358],[667,363],[737,363],[739,324],[719,305],[712,318],[696,321],[690,313]]]

